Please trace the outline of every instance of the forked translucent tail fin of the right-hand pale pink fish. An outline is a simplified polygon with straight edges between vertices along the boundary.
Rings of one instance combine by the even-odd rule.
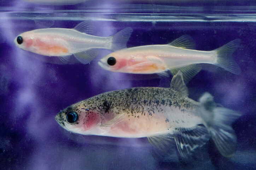
[[[222,47],[215,49],[214,51],[217,53],[216,65],[231,73],[240,74],[241,69],[232,58],[232,54],[239,47],[239,44],[240,39],[235,39]]]

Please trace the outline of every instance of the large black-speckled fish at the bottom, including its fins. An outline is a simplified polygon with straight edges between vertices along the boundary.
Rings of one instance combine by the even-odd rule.
[[[55,119],[64,129],[82,135],[148,138],[159,151],[176,143],[182,158],[213,139],[225,157],[235,152],[232,123],[241,114],[219,107],[210,93],[199,102],[188,98],[182,72],[169,88],[133,87],[105,92],[72,104]]]

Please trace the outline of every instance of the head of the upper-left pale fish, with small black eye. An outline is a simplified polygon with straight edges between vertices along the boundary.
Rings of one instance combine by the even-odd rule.
[[[34,51],[33,41],[34,34],[31,33],[31,31],[23,32],[14,39],[14,43],[17,45],[17,47],[32,52]]]

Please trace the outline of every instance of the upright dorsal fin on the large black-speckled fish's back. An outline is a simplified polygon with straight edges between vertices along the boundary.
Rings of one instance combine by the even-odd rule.
[[[181,71],[178,71],[178,73],[173,76],[173,79],[171,79],[170,88],[179,91],[184,96],[188,96],[188,89],[184,83]]]

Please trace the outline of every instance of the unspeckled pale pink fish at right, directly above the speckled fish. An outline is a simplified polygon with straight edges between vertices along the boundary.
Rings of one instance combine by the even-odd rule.
[[[227,71],[240,74],[241,69],[232,59],[240,40],[233,40],[211,51],[194,50],[195,42],[189,35],[183,35],[165,45],[143,45],[115,51],[104,56],[98,64],[108,71],[153,74],[168,76],[168,70],[175,75],[180,70],[185,83],[201,69],[199,63],[209,63]]]

